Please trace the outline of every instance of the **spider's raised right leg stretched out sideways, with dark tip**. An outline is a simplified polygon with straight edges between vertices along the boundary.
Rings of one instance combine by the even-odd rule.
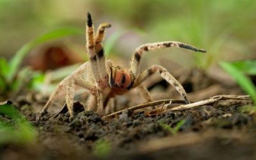
[[[132,55],[132,61],[130,64],[132,73],[136,77],[139,72],[139,67],[140,67],[140,60],[141,56],[143,54],[143,51],[154,51],[156,49],[163,49],[166,47],[180,47],[184,49],[190,49],[192,51],[196,52],[206,52],[204,49],[198,49],[192,45],[188,44],[183,44],[181,42],[175,42],[175,41],[168,41],[168,42],[157,42],[153,44],[143,44],[140,45],[140,47],[137,47]]]

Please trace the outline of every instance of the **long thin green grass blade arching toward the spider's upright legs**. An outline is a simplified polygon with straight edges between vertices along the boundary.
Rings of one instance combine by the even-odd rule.
[[[13,77],[17,73],[17,70],[19,69],[20,63],[22,62],[24,56],[28,54],[31,49],[36,47],[37,45],[43,44],[45,42],[48,42],[50,40],[54,40],[57,38],[62,38],[65,36],[70,35],[83,35],[83,30],[78,28],[61,28],[56,29],[54,31],[49,31],[45,33],[42,36],[39,36],[38,38],[35,38],[34,40],[31,40],[27,44],[23,45],[19,51],[16,52],[15,56],[13,56],[12,60],[10,61],[10,72],[8,74],[7,80],[10,82],[13,80]]]

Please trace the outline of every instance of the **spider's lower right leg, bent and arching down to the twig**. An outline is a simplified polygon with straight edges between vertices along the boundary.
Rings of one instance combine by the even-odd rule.
[[[182,85],[179,83],[179,81],[177,81],[175,79],[175,77],[172,76],[172,74],[170,74],[168,72],[168,70],[166,70],[166,68],[161,67],[159,65],[153,65],[150,68],[147,68],[147,70],[144,70],[143,72],[141,72],[138,77],[136,77],[136,80],[134,82],[134,86],[132,86],[132,88],[140,85],[141,83],[143,83],[143,81],[145,81],[145,79],[147,79],[149,76],[151,76],[152,74],[154,74],[155,72],[159,72],[160,76],[167,81],[169,84],[171,84],[176,90],[177,92],[179,92],[179,94],[184,98],[185,102],[187,104],[189,104],[189,100],[188,100],[188,96],[184,90],[184,88],[182,87]]]

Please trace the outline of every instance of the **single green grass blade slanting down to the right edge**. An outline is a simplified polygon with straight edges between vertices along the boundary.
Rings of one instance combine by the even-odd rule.
[[[220,62],[221,67],[232,76],[237,84],[241,86],[241,88],[244,90],[244,92],[248,93],[253,99],[254,102],[256,102],[256,87],[253,85],[252,81],[248,79],[248,77],[244,76],[243,72],[236,68],[236,65],[233,65],[232,63],[228,63],[226,61]]]

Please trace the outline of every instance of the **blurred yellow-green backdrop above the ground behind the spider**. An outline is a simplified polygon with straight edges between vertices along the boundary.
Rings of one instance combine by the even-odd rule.
[[[184,66],[208,69],[219,60],[256,58],[255,9],[254,0],[0,0],[0,55],[11,58],[26,42],[56,28],[83,31],[90,12],[95,27],[101,22],[113,24],[105,41],[111,35],[118,37],[111,56],[127,60],[138,45],[175,40],[204,48],[208,54],[166,49],[145,55],[145,61],[159,64],[159,58],[167,57]],[[64,45],[71,55],[77,54],[78,61],[86,57],[83,35],[47,42],[51,43]]]

